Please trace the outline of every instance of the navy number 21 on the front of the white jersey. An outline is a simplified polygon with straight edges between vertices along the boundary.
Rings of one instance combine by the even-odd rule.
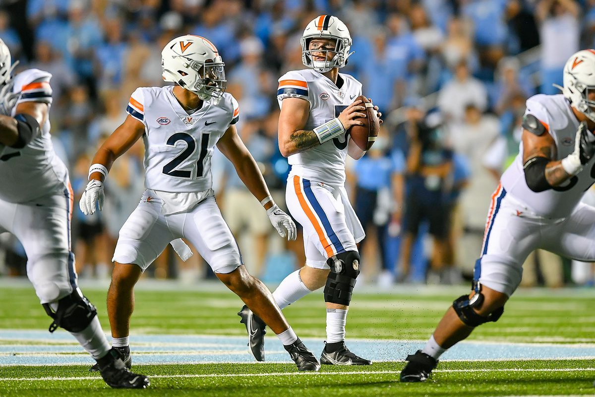
[[[168,137],[168,146],[176,146],[176,143],[182,140],[186,142],[186,149],[181,151],[173,160],[163,166],[163,173],[168,176],[184,179],[197,179],[203,176],[205,171],[205,158],[209,148],[209,133],[202,133],[201,142],[196,142],[196,139],[185,132],[176,132],[174,135]],[[192,168],[180,168],[180,165],[188,158],[192,157],[196,153],[196,148],[199,147],[200,152],[198,154],[198,161],[193,163]],[[194,175],[194,176],[193,176]]]

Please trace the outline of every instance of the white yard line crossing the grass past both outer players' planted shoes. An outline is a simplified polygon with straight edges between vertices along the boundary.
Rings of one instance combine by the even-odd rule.
[[[458,373],[458,372],[574,372],[574,371],[595,371],[595,368],[497,368],[497,369],[469,369],[469,370],[434,370],[434,373]],[[151,379],[173,379],[173,378],[209,378],[209,377],[262,377],[262,376],[328,376],[328,375],[378,375],[378,374],[394,374],[397,371],[340,371],[340,372],[271,372],[261,374],[178,374],[178,375],[153,375],[149,376]],[[3,378],[0,377],[0,382],[16,381],[16,382],[32,382],[35,380],[94,380],[101,379],[99,376],[74,376],[74,377],[40,377],[40,378]]]

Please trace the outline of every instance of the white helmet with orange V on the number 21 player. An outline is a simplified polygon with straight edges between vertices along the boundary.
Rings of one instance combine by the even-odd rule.
[[[205,37],[184,35],[161,51],[163,80],[179,84],[203,101],[220,101],[227,87],[224,63],[217,48]]]

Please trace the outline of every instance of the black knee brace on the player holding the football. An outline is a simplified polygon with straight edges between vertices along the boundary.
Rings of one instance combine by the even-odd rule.
[[[359,254],[346,251],[328,258],[331,268],[324,286],[324,301],[349,306],[355,279],[359,274]]]

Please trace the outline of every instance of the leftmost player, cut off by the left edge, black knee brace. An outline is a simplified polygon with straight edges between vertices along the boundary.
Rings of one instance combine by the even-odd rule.
[[[11,76],[8,47],[0,40],[0,233],[10,232],[27,254],[27,277],[46,313],[97,361],[111,387],[144,389],[111,349],[95,306],[83,296],[70,242],[73,190],[49,135],[52,75],[28,69]]]

